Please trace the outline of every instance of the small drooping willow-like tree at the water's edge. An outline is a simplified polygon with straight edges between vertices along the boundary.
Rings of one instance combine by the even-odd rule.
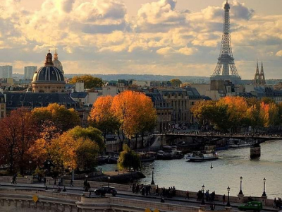
[[[128,168],[128,170],[138,170],[141,167],[140,156],[132,151],[126,144],[123,144],[123,151],[118,157],[118,169],[123,170]]]

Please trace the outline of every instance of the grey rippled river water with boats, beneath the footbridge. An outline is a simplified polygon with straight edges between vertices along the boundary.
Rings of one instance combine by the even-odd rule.
[[[247,196],[261,196],[266,178],[266,195],[269,198],[282,197],[282,141],[267,141],[261,144],[261,157],[250,159],[250,148],[219,151],[219,160],[201,163],[181,160],[155,160],[143,163],[142,172],[147,176],[140,183],[152,181],[160,187],[199,191],[202,184],[205,190],[216,194],[236,196],[240,191],[240,176],[243,177],[242,190]],[[213,168],[211,169],[211,163]],[[103,165],[103,170],[115,170],[116,165]]]

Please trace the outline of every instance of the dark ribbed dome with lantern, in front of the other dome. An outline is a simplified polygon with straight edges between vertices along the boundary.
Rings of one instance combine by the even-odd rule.
[[[63,93],[63,73],[53,64],[50,51],[46,54],[44,66],[35,71],[32,79],[32,93]]]

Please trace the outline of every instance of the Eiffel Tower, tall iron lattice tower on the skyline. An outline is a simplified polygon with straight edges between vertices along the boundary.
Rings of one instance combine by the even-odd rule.
[[[221,52],[219,54],[216,68],[214,69],[214,73],[210,79],[211,81],[232,81],[233,83],[238,84],[240,83],[241,77],[236,69],[232,54],[229,11],[230,5],[228,4],[228,0],[226,0],[226,4],[224,5]]]

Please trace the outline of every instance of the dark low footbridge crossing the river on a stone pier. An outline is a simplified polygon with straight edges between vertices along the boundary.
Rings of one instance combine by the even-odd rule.
[[[167,132],[165,134],[154,134],[155,140],[151,148],[158,146],[176,145],[185,141],[185,144],[178,146],[197,145],[204,148],[205,145],[215,145],[216,141],[222,139],[240,139],[252,143],[250,146],[250,158],[260,157],[260,144],[266,141],[282,140],[280,134],[216,134],[212,132]]]

